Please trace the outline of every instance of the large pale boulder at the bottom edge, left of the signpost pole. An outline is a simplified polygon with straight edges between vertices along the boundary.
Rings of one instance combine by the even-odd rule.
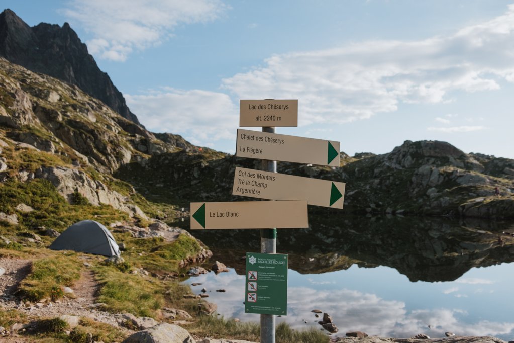
[[[169,323],[160,323],[127,337],[122,343],[196,343],[196,341],[185,329]]]

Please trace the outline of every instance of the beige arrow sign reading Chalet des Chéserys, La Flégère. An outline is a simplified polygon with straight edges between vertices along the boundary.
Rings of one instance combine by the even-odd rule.
[[[339,167],[339,142],[260,131],[238,129],[235,154],[238,157]]]

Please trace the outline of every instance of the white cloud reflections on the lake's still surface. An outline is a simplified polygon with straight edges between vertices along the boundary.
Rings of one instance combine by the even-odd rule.
[[[311,279],[312,280],[312,279]],[[319,309],[331,315],[339,328],[337,336],[344,336],[347,331],[363,331],[369,335],[382,337],[408,338],[418,333],[426,333],[430,337],[445,337],[450,331],[457,335],[500,336],[514,333],[514,323],[492,322],[482,320],[479,322],[466,322],[466,311],[458,309],[433,309],[407,311],[406,304],[398,300],[385,300],[375,294],[362,293],[355,290],[315,290],[308,287],[314,284],[308,278],[301,282],[302,287],[288,287],[287,312],[288,315],[277,318],[277,322],[287,321],[293,328],[302,329],[314,327],[321,328],[310,311]],[[471,280],[472,282],[469,282]],[[475,282],[478,279],[468,279],[465,283]],[[484,280],[482,280],[484,281]],[[486,280],[487,281],[487,280]],[[218,306],[218,313],[225,318],[239,318],[243,321],[259,322],[259,315],[244,313],[245,276],[237,275],[233,269],[229,273],[214,275],[209,273],[191,278],[187,283],[203,282],[203,285],[192,286],[194,293],[199,294],[202,287],[206,287],[209,298]],[[316,286],[322,282],[316,282]],[[480,282],[491,283],[491,282]],[[218,293],[215,290],[224,288],[227,292]],[[449,288],[443,293],[456,292],[457,287]],[[454,296],[463,296],[456,294]],[[305,323],[306,320],[308,323]],[[429,329],[428,326],[433,326]]]

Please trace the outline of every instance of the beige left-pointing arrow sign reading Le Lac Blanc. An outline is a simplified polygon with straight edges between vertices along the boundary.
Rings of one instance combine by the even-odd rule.
[[[307,228],[307,201],[191,203],[191,229]]]

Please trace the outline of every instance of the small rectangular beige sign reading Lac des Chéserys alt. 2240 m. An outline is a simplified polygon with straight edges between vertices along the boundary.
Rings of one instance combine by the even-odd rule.
[[[298,100],[240,100],[240,127],[297,127]]]

